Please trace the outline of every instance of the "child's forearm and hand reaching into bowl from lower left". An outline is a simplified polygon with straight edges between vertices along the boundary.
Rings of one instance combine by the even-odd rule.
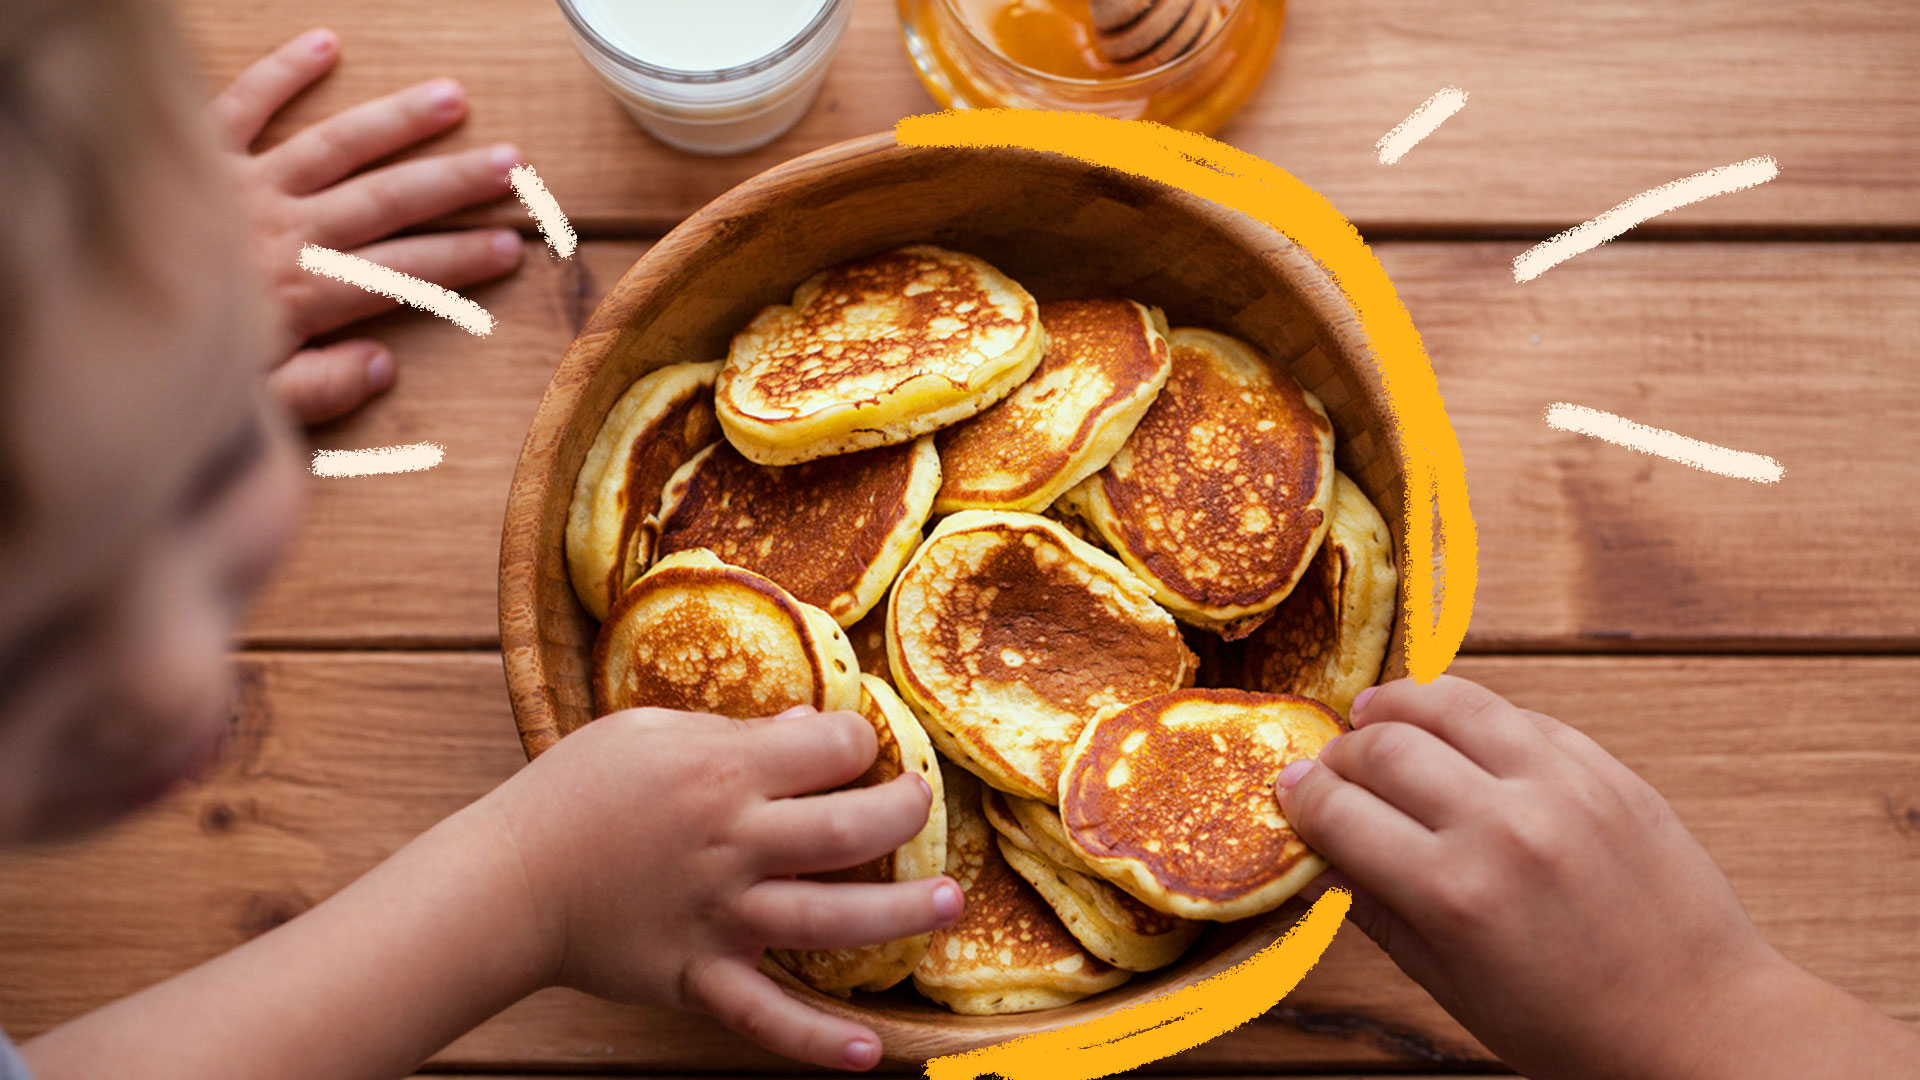
[[[735,723],[636,709],[561,740],[338,896],[23,1047],[36,1080],[405,1076],[541,986],[712,1013],[778,1053],[868,1068],[879,1040],[787,997],[760,951],[950,922],[950,878],[793,880],[877,857],[927,784],[858,776],[849,713]]]

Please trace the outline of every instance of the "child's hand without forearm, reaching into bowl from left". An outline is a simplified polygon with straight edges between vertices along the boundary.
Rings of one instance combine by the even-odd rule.
[[[852,713],[768,721],[632,709],[593,721],[499,790],[553,944],[553,980],[618,1001],[712,1013],[814,1065],[870,1068],[879,1040],[787,997],[766,947],[839,949],[960,915],[952,878],[824,884],[908,842],[931,794],[908,773],[824,796],[876,753]]]

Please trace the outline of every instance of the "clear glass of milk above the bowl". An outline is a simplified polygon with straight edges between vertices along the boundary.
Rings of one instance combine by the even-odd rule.
[[[655,138],[739,154],[793,127],[851,0],[559,0],[580,56]]]

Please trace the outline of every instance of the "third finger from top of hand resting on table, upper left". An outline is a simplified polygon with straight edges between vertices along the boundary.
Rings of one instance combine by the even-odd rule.
[[[509,144],[401,161],[342,181],[315,196],[315,242],[357,248],[476,202],[507,194],[507,173],[520,163]]]

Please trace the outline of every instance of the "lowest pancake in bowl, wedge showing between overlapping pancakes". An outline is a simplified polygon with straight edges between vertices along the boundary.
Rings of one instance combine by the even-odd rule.
[[[933,932],[914,988],[954,1013],[1031,1013],[1112,990],[1131,976],[1087,951],[1025,882],[981,817],[979,780],[945,769],[947,874],[966,911]]]

